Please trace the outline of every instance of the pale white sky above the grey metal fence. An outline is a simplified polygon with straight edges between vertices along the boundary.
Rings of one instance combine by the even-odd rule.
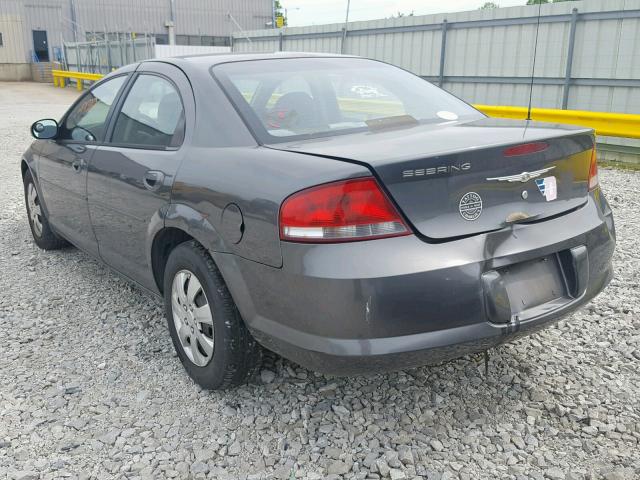
[[[413,11],[414,15],[475,10],[487,0],[351,0],[349,21],[375,20]],[[524,5],[526,0],[493,0],[501,7]],[[280,0],[290,27],[344,22],[347,0]]]

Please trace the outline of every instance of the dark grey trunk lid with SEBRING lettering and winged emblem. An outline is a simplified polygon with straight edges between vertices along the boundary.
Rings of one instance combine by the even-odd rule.
[[[420,234],[446,240],[583,205],[593,141],[589,129],[485,118],[270,147],[366,165]]]

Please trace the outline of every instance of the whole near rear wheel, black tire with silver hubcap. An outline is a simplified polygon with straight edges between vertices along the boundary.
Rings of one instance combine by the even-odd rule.
[[[178,358],[198,385],[225,389],[255,375],[262,347],[247,330],[212,258],[197,242],[171,252],[164,299]]]

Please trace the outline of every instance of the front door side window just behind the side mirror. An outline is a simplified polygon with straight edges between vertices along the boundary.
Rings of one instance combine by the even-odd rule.
[[[62,125],[59,140],[101,142],[109,109],[127,79],[115,77],[91,89],[71,110]]]

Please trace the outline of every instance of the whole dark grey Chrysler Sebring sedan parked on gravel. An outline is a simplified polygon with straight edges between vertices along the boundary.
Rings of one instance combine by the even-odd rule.
[[[487,118],[379,61],[144,61],[31,132],[35,243],[162,296],[205,388],[262,348],[330,374],[481,352],[612,277],[592,130]]]

